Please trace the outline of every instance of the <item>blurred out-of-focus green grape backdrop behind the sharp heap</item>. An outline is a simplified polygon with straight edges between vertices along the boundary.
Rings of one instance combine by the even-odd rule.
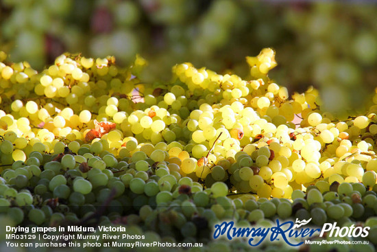
[[[327,110],[365,103],[377,86],[377,1],[0,0],[0,50],[36,69],[64,51],[149,60],[145,80],[193,62],[248,75],[245,56],[276,49],[290,91],[320,89]]]

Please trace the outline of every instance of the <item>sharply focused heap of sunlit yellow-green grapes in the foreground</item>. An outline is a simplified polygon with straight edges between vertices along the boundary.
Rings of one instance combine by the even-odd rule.
[[[0,52],[1,251],[5,226],[66,225],[204,244],[164,251],[249,251],[243,240],[213,242],[214,226],[275,218],[370,227],[367,238],[337,238],[369,244],[302,251],[374,251],[377,94],[365,115],[322,111],[316,89],[290,96],[267,76],[277,64],[269,48],[247,57],[249,80],[186,62],[171,81],[149,83],[141,56],[121,68],[112,56],[63,54],[40,72],[7,57]],[[297,250],[282,241],[259,249]]]

